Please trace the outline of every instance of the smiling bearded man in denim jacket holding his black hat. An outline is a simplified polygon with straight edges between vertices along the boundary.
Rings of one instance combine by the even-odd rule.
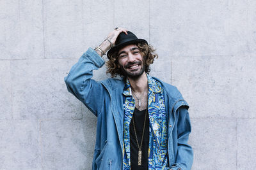
[[[107,51],[107,72],[121,79],[94,81]],[[97,116],[93,169],[191,169],[188,104],[148,75],[156,57],[145,39],[117,27],[65,77],[68,91]]]

